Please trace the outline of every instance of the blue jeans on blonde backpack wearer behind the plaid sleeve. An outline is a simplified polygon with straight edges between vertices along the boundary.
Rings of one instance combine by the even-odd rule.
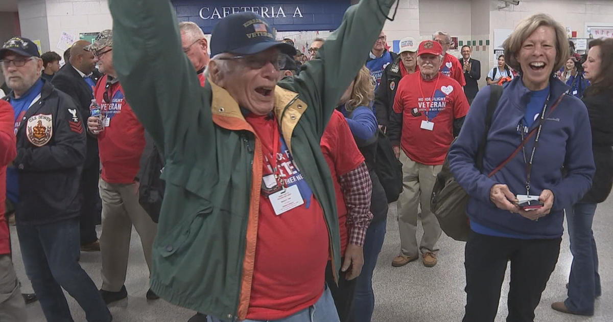
[[[379,223],[371,223],[366,232],[364,243],[364,266],[357,277],[356,293],[353,298],[352,322],[370,322],[375,309],[375,293],[373,293],[373,271],[377,258],[383,247],[387,219]]]

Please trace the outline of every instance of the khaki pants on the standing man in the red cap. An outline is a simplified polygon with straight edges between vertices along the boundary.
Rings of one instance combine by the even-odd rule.
[[[436,175],[443,165],[427,166],[417,163],[400,151],[402,163],[402,193],[398,197],[398,228],[400,248],[403,255],[417,256],[419,251],[436,253],[436,242],[441,237],[441,226],[430,211],[430,197]],[[424,227],[419,249],[417,247],[417,205],[421,205],[421,220]]]

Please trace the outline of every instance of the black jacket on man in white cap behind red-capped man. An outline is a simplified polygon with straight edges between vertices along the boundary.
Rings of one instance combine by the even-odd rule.
[[[394,97],[398,89],[400,75],[400,56],[394,59],[394,63],[387,65],[381,76],[381,83],[375,91],[375,114],[379,125],[389,126],[389,121],[394,113]]]

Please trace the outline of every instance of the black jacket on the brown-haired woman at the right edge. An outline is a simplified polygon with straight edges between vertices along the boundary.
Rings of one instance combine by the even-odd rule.
[[[587,106],[592,125],[592,150],[596,173],[592,179],[592,188],[581,202],[597,204],[607,199],[613,186],[613,94],[584,96],[582,101]]]

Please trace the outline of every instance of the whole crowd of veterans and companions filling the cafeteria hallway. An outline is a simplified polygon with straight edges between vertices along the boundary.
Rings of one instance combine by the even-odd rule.
[[[113,29],[75,42],[62,67],[57,53],[8,40],[0,320],[26,321],[32,301],[12,264],[14,209],[50,322],[72,321],[63,291],[87,321],[113,320],[132,226],[147,299],[193,310],[189,322],[370,322],[391,202],[400,247],[387,263],[438,263],[431,197],[444,166],[470,196],[463,321],[495,319],[508,263],[507,320],[535,320],[565,217],[573,264],[551,307],[593,315],[592,220],[613,185],[613,39],[592,40],[580,63],[565,28],[533,15],[479,88],[481,62],[470,46],[447,53],[449,33],[389,51],[394,2],[350,7],[308,56],[253,12],[221,19],[209,44],[166,0],[109,0]],[[99,288],[81,251],[101,252]]]

